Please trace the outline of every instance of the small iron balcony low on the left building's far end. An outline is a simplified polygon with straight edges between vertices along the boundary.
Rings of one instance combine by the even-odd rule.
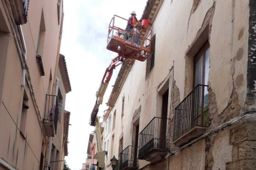
[[[59,117],[58,97],[56,95],[46,94],[45,116],[43,118],[43,126],[45,127],[46,136],[53,137],[54,134],[56,134],[58,117]]]

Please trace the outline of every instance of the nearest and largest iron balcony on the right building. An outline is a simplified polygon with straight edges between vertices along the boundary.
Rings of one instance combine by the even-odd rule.
[[[198,84],[175,108],[173,144],[181,147],[207,131],[208,91]]]

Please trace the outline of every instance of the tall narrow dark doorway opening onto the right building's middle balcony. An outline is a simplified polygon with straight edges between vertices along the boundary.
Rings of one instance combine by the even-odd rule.
[[[160,147],[166,147],[166,129],[167,129],[167,115],[168,115],[168,96],[169,89],[163,94],[163,103],[162,103],[162,122],[161,122],[161,139]]]

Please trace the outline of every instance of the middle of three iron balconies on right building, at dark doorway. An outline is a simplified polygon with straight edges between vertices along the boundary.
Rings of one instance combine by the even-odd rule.
[[[169,145],[166,142],[166,127],[170,119],[153,118],[140,132],[139,160],[158,161],[166,156]]]

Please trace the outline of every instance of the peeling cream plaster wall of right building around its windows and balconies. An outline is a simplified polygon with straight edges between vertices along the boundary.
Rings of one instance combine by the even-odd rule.
[[[140,132],[154,116],[161,116],[159,92],[171,68],[174,72],[168,77],[168,117],[171,118],[168,136],[172,143],[174,108],[192,90],[192,82],[186,81],[191,79],[186,77],[186,67],[187,60],[193,56],[189,56],[187,51],[195,45],[205,28],[209,29],[207,37],[210,42],[207,84],[211,126],[208,130],[241,115],[247,92],[249,0],[198,0],[195,3],[165,0],[151,26],[153,34],[156,34],[155,66],[146,77],[147,63],[135,61],[111,111],[113,114],[116,110],[116,128],[113,130],[116,146],[120,136],[124,136],[124,148],[132,144],[132,118],[138,108]],[[123,118],[122,97],[125,97]],[[224,130],[214,139],[200,140],[179,151],[170,158],[169,168],[204,169],[206,166],[208,169],[224,169],[226,163],[232,161],[229,131]],[[176,150],[176,147],[171,145],[171,150]],[[114,148],[114,153],[118,154],[118,147]],[[194,155],[190,155],[192,153]],[[221,153],[226,154],[225,158]],[[142,168],[146,164],[140,161],[139,166]],[[160,169],[157,166],[145,169]]]

